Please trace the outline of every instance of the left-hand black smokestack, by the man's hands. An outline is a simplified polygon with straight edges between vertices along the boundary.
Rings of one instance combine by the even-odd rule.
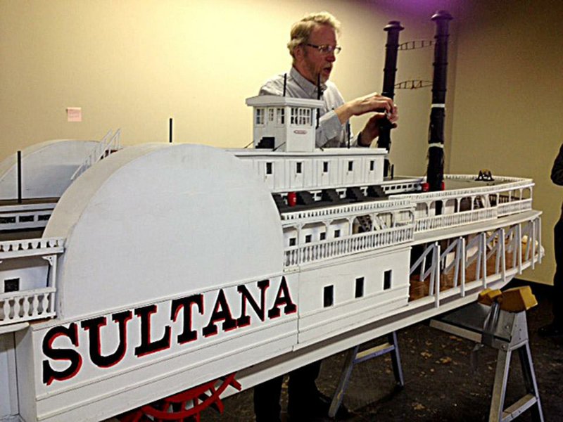
[[[383,91],[382,96],[393,99],[395,96],[395,75],[397,72],[397,53],[399,49],[399,32],[404,30],[397,20],[391,20],[384,28],[387,32],[387,44],[385,44],[385,68],[383,70]],[[391,151],[391,129],[393,124],[388,120],[384,120],[379,127],[379,137],[377,139],[377,146],[385,148],[388,152]],[[389,173],[389,160],[385,159],[384,163],[384,177]]]

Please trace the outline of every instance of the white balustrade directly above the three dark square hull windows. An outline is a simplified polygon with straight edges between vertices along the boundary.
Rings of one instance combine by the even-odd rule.
[[[317,241],[300,246],[291,246],[285,250],[285,265],[286,267],[293,267],[294,265],[309,264],[357,252],[397,245],[412,241],[413,234],[412,226],[405,226],[382,231],[369,231],[329,241]]]

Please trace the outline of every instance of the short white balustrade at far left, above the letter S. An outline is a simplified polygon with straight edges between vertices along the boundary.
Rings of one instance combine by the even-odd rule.
[[[0,326],[55,316],[55,293],[54,287],[2,293]]]

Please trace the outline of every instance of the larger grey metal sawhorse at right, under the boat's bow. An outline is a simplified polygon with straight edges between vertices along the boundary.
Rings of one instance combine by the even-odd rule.
[[[534,421],[543,422],[543,411],[528,339],[526,312],[502,311],[498,303],[492,306],[472,303],[455,312],[430,321],[430,326],[458,337],[498,350],[495,382],[489,422],[507,422],[532,409]],[[505,393],[512,352],[518,351],[526,394],[505,409]]]

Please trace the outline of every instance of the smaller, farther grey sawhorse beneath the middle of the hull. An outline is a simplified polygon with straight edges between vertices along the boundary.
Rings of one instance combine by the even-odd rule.
[[[397,385],[401,388],[405,386],[405,379],[403,378],[403,367],[400,364],[400,354],[399,345],[397,342],[397,333],[389,333],[387,335],[387,342],[381,345],[370,347],[367,350],[362,350],[360,352],[360,346],[357,345],[348,350],[346,360],[344,361],[344,366],[342,368],[342,373],[340,375],[339,385],[334,392],[332,397],[332,402],[329,408],[329,417],[334,418],[336,416],[336,411],[338,411],[340,405],[342,404],[342,399],[344,398],[344,392],[348,388],[348,383],[350,382],[350,376],[352,375],[352,370],[354,366],[365,362],[374,357],[381,356],[382,354],[391,353],[391,362],[393,364],[393,373],[395,374],[395,380]]]

